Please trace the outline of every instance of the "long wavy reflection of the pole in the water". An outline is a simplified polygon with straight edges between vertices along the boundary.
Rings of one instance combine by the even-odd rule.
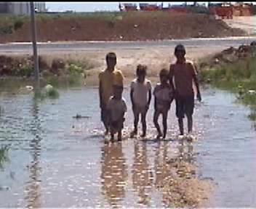
[[[33,110],[32,110],[33,120],[31,121],[31,134],[33,134],[33,139],[29,143],[31,152],[31,163],[28,166],[29,181],[26,184],[25,191],[27,200],[27,208],[40,208],[41,207],[41,166],[40,166],[40,155],[41,155],[41,121],[39,117],[39,104],[37,99],[33,99]]]

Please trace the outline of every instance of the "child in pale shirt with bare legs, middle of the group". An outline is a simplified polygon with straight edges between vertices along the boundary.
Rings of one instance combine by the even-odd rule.
[[[151,81],[145,78],[147,72],[147,66],[137,65],[136,75],[137,78],[131,83],[130,98],[132,101],[132,111],[134,114],[134,130],[131,133],[131,137],[137,135],[137,123],[141,115],[141,123],[143,126],[142,137],[146,135],[146,115],[149,105],[151,104]]]

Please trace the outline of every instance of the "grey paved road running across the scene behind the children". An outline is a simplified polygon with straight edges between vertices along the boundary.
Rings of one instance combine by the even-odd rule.
[[[186,47],[207,47],[207,46],[239,46],[250,44],[256,41],[256,37],[232,37],[232,38],[191,38],[183,40],[168,41],[74,41],[74,42],[52,42],[39,43],[39,52],[76,52],[94,51],[104,49],[143,49],[147,47],[173,47],[182,43]],[[25,54],[32,52],[31,43],[0,44],[0,54],[18,53]]]

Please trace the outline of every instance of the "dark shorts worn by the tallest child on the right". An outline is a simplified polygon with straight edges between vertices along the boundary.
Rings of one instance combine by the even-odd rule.
[[[176,96],[176,116],[177,118],[184,118],[185,115],[193,115],[194,95],[191,96]]]

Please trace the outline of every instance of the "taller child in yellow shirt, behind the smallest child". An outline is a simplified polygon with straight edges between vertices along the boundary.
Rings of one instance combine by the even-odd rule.
[[[105,70],[100,72],[99,75],[99,96],[100,96],[100,109],[101,109],[101,120],[105,126],[105,135],[108,135],[109,131],[109,112],[107,107],[108,100],[113,96],[113,81],[116,76],[121,79],[119,84],[122,86],[123,75],[120,70],[115,70],[116,66],[116,54],[114,52],[109,52],[105,61],[107,67]]]

